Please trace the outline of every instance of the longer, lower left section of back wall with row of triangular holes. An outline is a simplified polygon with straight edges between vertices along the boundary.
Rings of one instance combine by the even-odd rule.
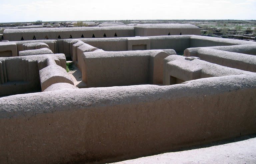
[[[8,41],[58,40],[71,38],[134,37],[133,26],[5,29]],[[116,36],[115,36],[116,35]]]

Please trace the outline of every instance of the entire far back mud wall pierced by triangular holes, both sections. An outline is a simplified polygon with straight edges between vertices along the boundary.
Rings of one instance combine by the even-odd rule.
[[[135,26],[6,29],[8,41],[115,38],[134,36],[200,35],[200,29],[185,24],[137,24]]]

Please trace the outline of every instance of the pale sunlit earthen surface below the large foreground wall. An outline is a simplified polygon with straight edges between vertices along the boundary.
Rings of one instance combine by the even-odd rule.
[[[256,163],[256,135],[243,136],[233,141],[219,141],[204,145],[205,147],[194,147],[191,150],[169,152],[148,157],[131,159],[115,164],[255,164]],[[241,140],[245,139],[245,140]],[[230,142],[230,143],[228,143]]]

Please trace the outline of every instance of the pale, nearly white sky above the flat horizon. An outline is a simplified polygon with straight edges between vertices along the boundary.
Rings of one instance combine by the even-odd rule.
[[[0,0],[0,22],[256,20],[256,0]]]

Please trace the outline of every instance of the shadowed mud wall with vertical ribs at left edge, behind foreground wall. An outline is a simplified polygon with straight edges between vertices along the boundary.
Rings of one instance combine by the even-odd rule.
[[[0,57],[0,96],[40,92],[39,70],[47,66],[49,58],[66,68],[64,54]]]

